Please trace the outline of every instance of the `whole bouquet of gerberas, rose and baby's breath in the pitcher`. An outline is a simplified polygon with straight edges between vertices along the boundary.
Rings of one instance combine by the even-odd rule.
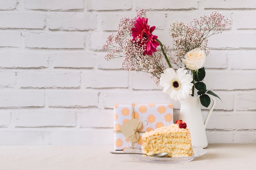
[[[149,73],[175,101],[195,96],[196,89],[201,104],[208,107],[211,102],[208,95],[218,95],[207,90],[203,82],[203,64],[209,54],[207,38],[222,33],[229,25],[231,21],[217,11],[189,24],[173,22],[169,30],[174,48],[168,49],[153,35],[155,26],[148,25],[146,11],[140,9],[134,18],[120,19],[117,33],[110,35],[103,46],[111,49],[105,58],[124,57],[125,70]]]

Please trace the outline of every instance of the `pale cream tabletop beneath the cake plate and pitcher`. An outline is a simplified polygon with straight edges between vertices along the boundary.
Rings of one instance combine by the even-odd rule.
[[[255,170],[256,144],[209,144],[184,163],[147,163],[113,155],[113,146],[0,146],[0,170]]]

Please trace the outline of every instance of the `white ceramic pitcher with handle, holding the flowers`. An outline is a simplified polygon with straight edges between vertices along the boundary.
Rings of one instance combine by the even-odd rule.
[[[208,146],[205,129],[216,104],[215,99],[213,97],[210,98],[213,104],[205,121],[203,121],[199,97],[189,97],[180,101],[179,119],[186,122],[187,128],[190,129],[192,146],[200,148],[206,148]]]

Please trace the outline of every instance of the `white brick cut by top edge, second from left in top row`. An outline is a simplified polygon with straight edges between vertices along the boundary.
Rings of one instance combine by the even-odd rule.
[[[83,0],[24,0],[25,9],[45,11],[70,11],[83,10]]]

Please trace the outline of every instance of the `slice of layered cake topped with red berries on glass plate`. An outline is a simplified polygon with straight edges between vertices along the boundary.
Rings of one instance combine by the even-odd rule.
[[[190,131],[182,120],[169,126],[145,132],[142,135],[142,141],[142,152],[147,155],[160,152],[168,152],[166,157],[189,157],[193,155]]]

